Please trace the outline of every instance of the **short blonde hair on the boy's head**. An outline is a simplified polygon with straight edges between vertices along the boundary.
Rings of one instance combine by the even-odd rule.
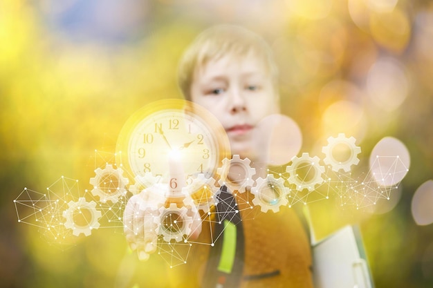
[[[225,55],[245,57],[248,52],[254,52],[255,56],[264,61],[277,91],[278,68],[273,51],[266,41],[245,28],[218,25],[201,32],[181,58],[178,67],[178,85],[185,99],[191,99],[190,90],[196,68],[204,66],[211,59],[216,60]]]

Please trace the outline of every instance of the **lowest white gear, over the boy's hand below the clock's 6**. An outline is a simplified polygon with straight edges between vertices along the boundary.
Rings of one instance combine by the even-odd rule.
[[[158,224],[156,233],[162,235],[166,242],[180,242],[184,235],[191,233],[193,218],[187,215],[186,207],[178,208],[176,203],[171,203],[169,208],[160,207],[159,212],[159,216],[154,218],[154,222]]]

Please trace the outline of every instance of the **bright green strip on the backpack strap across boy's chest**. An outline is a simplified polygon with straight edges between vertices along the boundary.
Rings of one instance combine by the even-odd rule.
[[[224,273],[232,273],[234,255],[236,254],[236,225],[224,220],[223,249],[219,260],[218,270]]]

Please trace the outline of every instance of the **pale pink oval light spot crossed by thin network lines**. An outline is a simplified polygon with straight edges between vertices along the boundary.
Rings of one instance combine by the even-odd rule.
[[[409,171],[409,151],[400,140],[385,137],[371,151],[369,165],[374,180],[380,186],[393,186],[403,180]]]

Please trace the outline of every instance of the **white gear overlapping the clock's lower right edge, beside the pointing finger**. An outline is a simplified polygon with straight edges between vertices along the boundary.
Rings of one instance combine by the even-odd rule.
[[[219,194],[219,189],[215,186],[214,178],[205,177],[203,173],[200,173],[192,179],[191,184],[183,188],[182,192],[185,194],[185,197],[192,199],[197,209],[207,213],[216,204],[216,196]]]

